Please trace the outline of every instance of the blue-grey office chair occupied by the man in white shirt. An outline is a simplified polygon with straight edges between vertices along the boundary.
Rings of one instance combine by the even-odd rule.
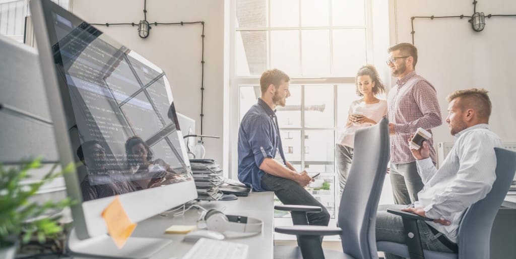
[[[376,243],[378,251],[417,259],[489,258],[491,227],[496,213],[507,195],[507,190],[509,190],[514,172],[516,171],[515,152],[500,148],[495,148],[494,151],[496,153],[496,180],[486,198],[471,205],[462,217],[457,239],[457,245],[459,247],[458,253],[423,250],[419,235],[411,235],[414,238],[409,238],[408,234],[418,233],[416,220],[428,221],[431,219],[398,210],[396,210],[394,214],[404,217],[404,228],[407,236],[407,244],[409,245],[378,241]],[[406,222],[409,223],[406,224]],[[412,225],[413,227],[409,228],[408,225]]]

